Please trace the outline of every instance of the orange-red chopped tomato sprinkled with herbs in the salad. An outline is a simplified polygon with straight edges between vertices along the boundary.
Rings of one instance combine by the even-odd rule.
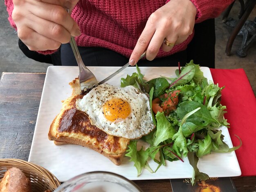
[[[171,111],[176,109],[176,105],[178,104],[178,95],[180,93],[180,90],[176,90],[170,93],[163,94],[160,96],[164,100],[164,102],[161,103],[160,98],[154,98],[152,100],[152,110],[155,114],[157,112],[164,112],[165,115],[168,115],[171,113]],[[160,105],[161,103],[161,105]]]

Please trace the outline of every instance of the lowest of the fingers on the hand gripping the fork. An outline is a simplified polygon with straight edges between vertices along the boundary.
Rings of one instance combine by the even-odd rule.
[[[31,51],[55,50],[61,46],[60,42],[46,38],[28,27],[19,27],[17,33]]]

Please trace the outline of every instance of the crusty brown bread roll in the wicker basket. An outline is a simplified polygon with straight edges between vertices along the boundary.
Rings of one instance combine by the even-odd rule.
[[[20,169],[11,167],[0,183],[0,192],[31,192],[31,183]]]

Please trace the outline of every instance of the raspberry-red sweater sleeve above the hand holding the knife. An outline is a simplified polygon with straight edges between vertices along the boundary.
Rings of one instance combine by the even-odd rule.
[[[166,3],[169,1],[171,0],[166,0]],[[234,0],[191,0],[197,9],[195,23],[218,17],[233,1]]]

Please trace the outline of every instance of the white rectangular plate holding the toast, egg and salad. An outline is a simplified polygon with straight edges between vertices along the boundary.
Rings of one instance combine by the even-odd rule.
[[[108,75],[115,72],[119,67],[88,67],[101,81]],[[150,80],[159,76],[175,77],[177,67],[140,67],[141,73]],[[204,76],[212,80],[211,72],[208,67],[201,67]],[[126,78],[136,72],[135,67],[127,67],[117,76],[110,79],[107,83],[120,86],[121,77]],[[52,172],[61,182],[91,171],[108,171],[125,176],[130,180],[146,179],[178,179],[192,177],[193,168],[187,158],[181,161],[166,161],[166,166],[161,166],[156,173],[143,170],[137,177],[137,170],[134,163],[125,156],[121,165],[117,166],[105,156],[79,145],[54,145],[48,139],[49,126],[55,116],[60,112],[62,103],[71,96],[72,89],[68,85],[70,81],[79,74],[78,67],[51,66],[48,67],[45,84],[43,87],[42,98],[40,101],[34,138],[29,154],[29,162],[36,163]],[[224,141],[233,147],[229,132],[226,127],[221,127]],[[155,170],[157,164],[149,162],[150,167]],[[200,172],[208,174],[210,177],[240,176],[241,170],[235,152],[212,153],[199,159],[198,168]]]

